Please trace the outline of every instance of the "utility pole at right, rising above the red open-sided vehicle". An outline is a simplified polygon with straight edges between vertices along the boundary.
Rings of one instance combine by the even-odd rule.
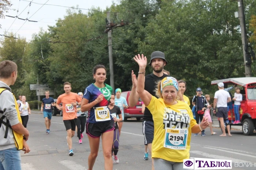
[[[248,63],[248,61],[246,59],[246,52],[244,49],[245,45],[248,45],[248,40],[246,37],[243,0],[237,0],[237,3],[238,3],[238,15],[239,15],[239,20],[240,20],[240,28],[241,28],[242,50],[243,50],[243,55],[244,55],[245,77],[252,77],[251,63]]]

